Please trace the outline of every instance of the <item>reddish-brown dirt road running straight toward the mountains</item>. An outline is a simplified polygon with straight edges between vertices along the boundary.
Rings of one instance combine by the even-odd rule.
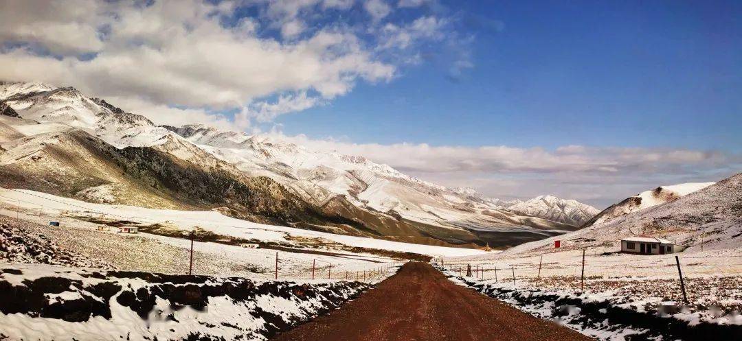
[[[272,340],[593,340],[450,282],[426,263],[398,274],[329,315]]]

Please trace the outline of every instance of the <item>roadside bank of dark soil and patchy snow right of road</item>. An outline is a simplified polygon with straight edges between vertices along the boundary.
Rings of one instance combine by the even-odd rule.
[[[512,277],[496,281],[462,276],[456,267],[446,270],[439,266],[439,269],[459,285],[474,288],[597,340],[706,340],[709,335],[715,340],[738,340],[742,334],[742,315],[710,306],[692,310],[669,301],[653,306],[652,302],[631,300],[605,291],[574,291],[550,285],[536,287],[529,279],[520,277],[516,277],[516,284],[513,284]],[[739,287],[739,278],[732,280],[737,282],[725,284]],[[722,283],[712,280],[708,284]]]

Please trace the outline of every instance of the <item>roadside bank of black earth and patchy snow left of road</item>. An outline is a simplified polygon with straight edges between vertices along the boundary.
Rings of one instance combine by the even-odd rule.
[[[0,266],[0,340],[266,340],[370,288]]]

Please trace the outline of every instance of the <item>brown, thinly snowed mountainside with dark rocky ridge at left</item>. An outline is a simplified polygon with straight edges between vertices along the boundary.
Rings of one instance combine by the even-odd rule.
[[[245,176],[187,142],[192,150],[179,148],[177,140],[157,148],[119,149],[85,130],[30,122],[0,116],[0,137],[16,137],[0,144],[2,187],[148,208],[219,209],[272,224],[353,224],[325,215],[266,177]],[[161,150],[167,148],[191,151],[190,161]]]

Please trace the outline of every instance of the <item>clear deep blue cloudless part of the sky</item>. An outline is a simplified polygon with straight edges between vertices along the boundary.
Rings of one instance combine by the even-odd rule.
[[[740,1],[456,1],[474,67],[445,56],[280,116],[289,134],[431,145],[739,152]],[[476,24],[502,21],[502,30]],[[433,52],[435,54],[436,52]]]

